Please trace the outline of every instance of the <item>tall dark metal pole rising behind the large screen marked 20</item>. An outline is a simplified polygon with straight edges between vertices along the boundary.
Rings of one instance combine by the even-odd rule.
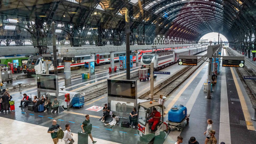
[[[126,24],[126,79],[130,80],[130,17],[128,10],[126,10],[125,24]]]

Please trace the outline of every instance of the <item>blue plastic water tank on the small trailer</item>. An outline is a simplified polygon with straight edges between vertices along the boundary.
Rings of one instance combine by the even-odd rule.
[[[171,122],[181,122],[187,115],[187,108],[183,105],[175,105],[168,112],[168,120]]]

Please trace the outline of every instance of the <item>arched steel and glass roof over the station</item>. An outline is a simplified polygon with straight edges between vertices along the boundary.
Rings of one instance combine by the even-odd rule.
[[[230,42],[254,43],[255,0],[5,0],[0,1],[0,42],[20,45],[31,39],[34,46],[51,45],[54,21],[59,42],[121,45],[127,14],[131,45],[193,43],[210,32]]]

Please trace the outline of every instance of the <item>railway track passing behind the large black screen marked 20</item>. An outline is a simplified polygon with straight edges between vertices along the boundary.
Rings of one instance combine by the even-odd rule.
[[[130,78],[130,80],[138,80],[138,79],[139,79],[139,76]],[[99,96],[101,96],[105,93],[107,93],[107,87],[97,89],[97,90],[95,90],[94,92],[92,92],[90,94],[81,94],[81,95],[85,98],[85,102],[87,102],[87,101],[89,101],[91,99],[94,99],[96,97],[99,97]]]

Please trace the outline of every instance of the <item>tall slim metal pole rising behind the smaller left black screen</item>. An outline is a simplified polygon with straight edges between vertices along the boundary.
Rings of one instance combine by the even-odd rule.
[[[51,30],[53,35],[53,66],[54,66],[54,74],[58,75],[58,68],[57,68],[57,52],[58,49],[56,48],[56,35],[55,35],[55,23],[51,23]]]

